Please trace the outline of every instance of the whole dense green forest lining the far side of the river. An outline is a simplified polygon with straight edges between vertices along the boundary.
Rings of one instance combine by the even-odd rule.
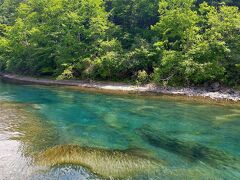
[[[1,71],[171,86],[240,84],[240,1],[0,2]]]

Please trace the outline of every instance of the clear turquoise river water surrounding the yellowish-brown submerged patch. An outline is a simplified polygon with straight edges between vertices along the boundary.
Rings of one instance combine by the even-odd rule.
[[[125,178],[240,178],[239,104],[1,82],[0,103],[0,179],[102,179],[80,165],[43,168],[33,161],[40,152],[69,144],[106,150],[105,155],[108,150],[134,152],[161,162],[154,172]]]

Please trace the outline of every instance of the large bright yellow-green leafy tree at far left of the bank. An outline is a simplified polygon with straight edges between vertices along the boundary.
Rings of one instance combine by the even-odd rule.
[[[8,27],[7,69],[28,74],[61,74],[97,56],[111,26],[101,0],[28,0]]]

